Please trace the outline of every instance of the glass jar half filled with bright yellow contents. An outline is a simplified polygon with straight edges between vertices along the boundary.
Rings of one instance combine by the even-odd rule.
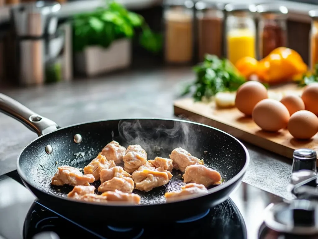
[[[226,57],[235,64],[245,56],[256,58],[255,5],[227,4]]]

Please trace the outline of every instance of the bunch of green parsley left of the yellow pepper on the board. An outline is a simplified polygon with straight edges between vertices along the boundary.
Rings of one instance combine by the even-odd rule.
[[[227,59],[219,59],[215,55],[206,55],[203,63],[194,67],[196,81],[186,86],[183,95],[195,88],[193,98],[201,101],[202,97],[210,98],[218,92],[235,91],[245,83],[245,78],[239,74]]]

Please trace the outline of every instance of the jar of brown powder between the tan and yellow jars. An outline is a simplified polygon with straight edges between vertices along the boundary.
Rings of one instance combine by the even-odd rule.
[[[199,60],[205,54],[222,56],[224,5],[199,1],[195,4],[198,26]]]

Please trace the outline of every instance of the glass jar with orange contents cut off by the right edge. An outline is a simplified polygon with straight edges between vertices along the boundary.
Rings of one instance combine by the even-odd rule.
[[[309,56],[310,56],[310,69],[315,70],[315,65],[318,63],[318,10],[309,11],[311,17],[311,30],[309,36]]]

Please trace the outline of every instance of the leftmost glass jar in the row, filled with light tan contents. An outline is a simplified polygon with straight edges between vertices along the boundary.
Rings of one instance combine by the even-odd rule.
[[[190,63],[193,60],[194,38],[192,1],[166,2],[165,22],[165,61],[168,63]]]

